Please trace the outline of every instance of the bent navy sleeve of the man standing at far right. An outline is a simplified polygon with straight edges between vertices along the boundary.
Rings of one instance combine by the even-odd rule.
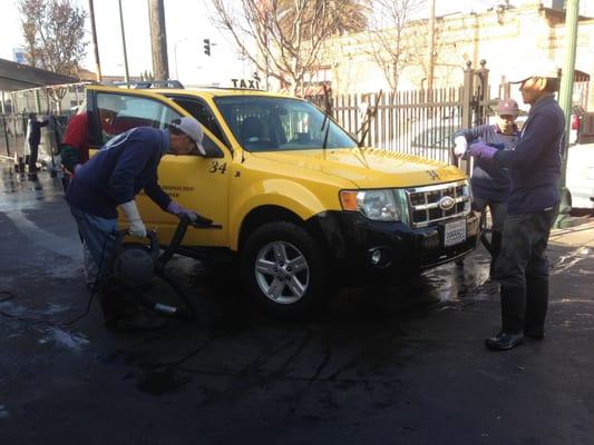
[[[502,166],[513,169],[527,169],[541,156],[543,148],[551,144],[552,132],[558,127],[552,113],[538,113],[524,130],[514,150],[498,150],[494,159]]]

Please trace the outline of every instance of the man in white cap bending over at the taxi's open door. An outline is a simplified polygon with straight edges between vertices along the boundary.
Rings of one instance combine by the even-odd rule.
[[[157,167],[160,158],[172,152],[189,155],[201,151],[203,132],[197,120],[188,117],[174,120],[168,129],[133,128],[110,139],[89,161],[76,167],[66,200],[75,217],[82,241],[99,270],[105,273],[107,260],[114,254],[113,233],[117,226],[117,208],[128,221],[132,236],[145,237],[146,228],[138,214],[135,197],[145,194],[164,211],[192,220],[197,216],[184,209],[158,185]],[[101,309],[108,327],[124,329],[157,328],[137,314],[126,313],[120,297],[109,286],[101,286]]]

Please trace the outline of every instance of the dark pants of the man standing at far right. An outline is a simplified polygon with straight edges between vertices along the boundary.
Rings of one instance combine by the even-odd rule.
[[[495,278],[502,285],[503,330],[542,332],[548,306],[548,259],[545,250],[555,210],[508,215]]]

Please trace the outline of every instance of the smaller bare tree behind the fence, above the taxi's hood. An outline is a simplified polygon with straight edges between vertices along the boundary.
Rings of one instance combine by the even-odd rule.
[[[368,0],[370,16],[370,55],[382,70],[392,92],[398,90],[402,70],[413,62],[409,42],[409,27],[427,0]],[[415,60],[416,62],[416,60]],[[392,95],[393,97],[393,95]]]

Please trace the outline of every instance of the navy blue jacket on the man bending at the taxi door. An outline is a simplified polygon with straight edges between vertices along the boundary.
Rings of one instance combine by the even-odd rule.
[[[168,148],[167,130],[138,127],[116,136],[80,167],[66,200],[87,214],[116,218],[116,207],[144,189],[165,210],[172,198],[158,185],[157,167]]]

